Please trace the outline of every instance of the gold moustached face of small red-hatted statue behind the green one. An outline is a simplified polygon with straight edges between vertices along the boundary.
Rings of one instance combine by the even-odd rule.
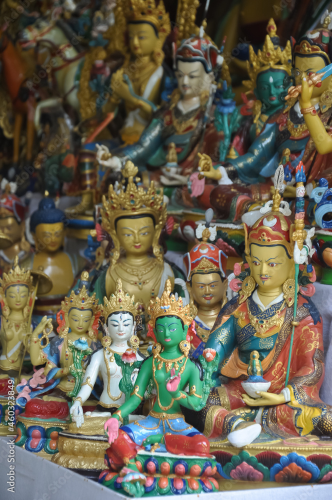
[[[215,305],[222,300],[227,287],[227,280],[221,281],[217,272],[201,274],[196,272],[191,277],[192,296],[198,305]]]

